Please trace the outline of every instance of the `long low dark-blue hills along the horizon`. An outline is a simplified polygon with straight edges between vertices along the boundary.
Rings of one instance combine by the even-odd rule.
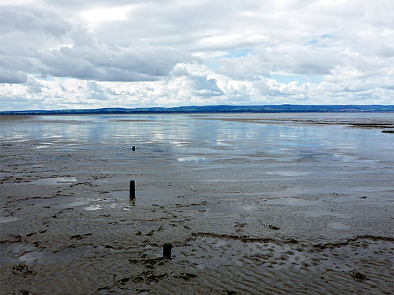
[[[180,112],[394,112],[394,106],[379,105],[281,105],[281,106],[180,106],[175,108],[98,108],[85,110],[15,110],[0,115],[91,115]]]

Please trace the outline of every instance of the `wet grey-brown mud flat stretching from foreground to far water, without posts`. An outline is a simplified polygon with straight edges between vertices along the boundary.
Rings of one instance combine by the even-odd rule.
[[[0,293],[393,294],[392,116],[243,116],[1,121]]]

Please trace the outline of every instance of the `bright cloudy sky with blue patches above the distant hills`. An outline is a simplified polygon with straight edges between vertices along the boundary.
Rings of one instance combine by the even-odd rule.
[[[393,0],[0,4],[0,110],[394,104]]]

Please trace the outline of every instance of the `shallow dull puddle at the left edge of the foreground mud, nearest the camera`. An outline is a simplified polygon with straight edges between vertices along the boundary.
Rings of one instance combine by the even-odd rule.
[[[79,258],[88,252],[88,249],[68,248],[56,253],[42,251],[34,246],[24,244],[2,244],[1,264],[56,264]]]

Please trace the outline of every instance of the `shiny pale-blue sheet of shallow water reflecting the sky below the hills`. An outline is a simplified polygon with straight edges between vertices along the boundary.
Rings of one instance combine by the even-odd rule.
[[[349,129],[343,126],[286,126],[221,121],[218,115],[85,115],[37,116],[29,120],[4,122],[3,142],[21,141],[35,149],[116,149],[128,151],[139,146],[150,153],[165,153],[168,160],[205,162],[227,155],[283,155],[293,160],[360,160],[381,158],[393,151],[393,142],[377,130]],[[234,117],[291,117],[289,114],[229,114]],[[314,117],[306,114],[304,117]],[[329,115],[321,115],[328,116]],[[331,114],[335,121],[336,114]],[[356,114],[352,115],[356,116]],[[360,115],[362,116],[362,115]],[[22,142],[23,141],[23,142]],[[379,142],[379,145],[374,144]],[[373,146],[374,150],[371,150]],[[358,157],[349,157],[356,151]]]

